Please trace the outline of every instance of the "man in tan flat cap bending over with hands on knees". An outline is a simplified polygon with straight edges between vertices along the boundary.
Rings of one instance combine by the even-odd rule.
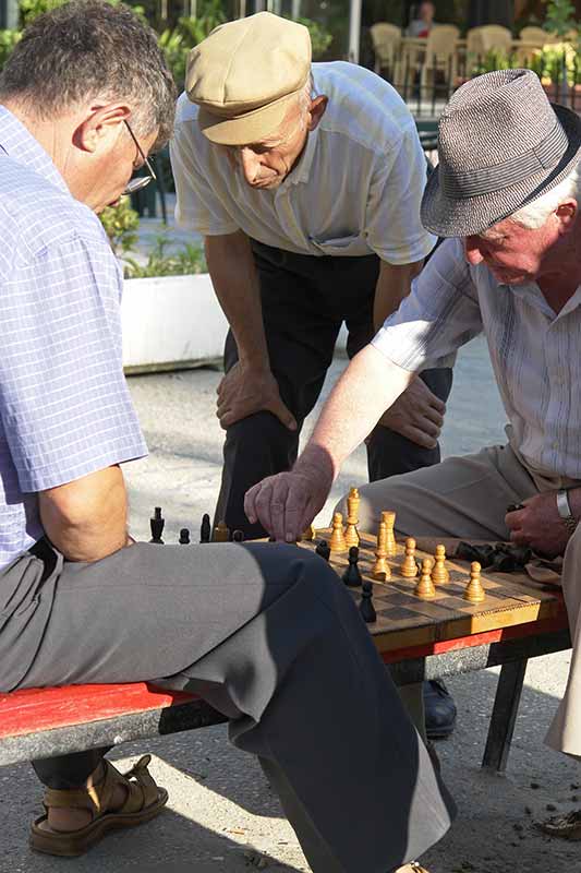
[[[244,493],[295,461],[341,323],[352,357],[434,247],[420,222],[426,162],[387,82],[353,63],[312,63],[308,31],[267,12],[192,50],[170,154],[178,224],[204,236],[230,323],[216,523],[262,537]],[[451,378],[449,361],[423,368],[374,422],[370,480],[439,461]],[[453,703],[426,692],[428,726],[449,731]]]

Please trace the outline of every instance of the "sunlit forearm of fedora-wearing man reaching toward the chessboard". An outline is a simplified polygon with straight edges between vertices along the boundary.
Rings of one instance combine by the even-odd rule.
[[[414,373],[389,361],[374,346],[366,346],[332,390],[294,469],[313,469],[330,488],[346,458],[413,378]]]

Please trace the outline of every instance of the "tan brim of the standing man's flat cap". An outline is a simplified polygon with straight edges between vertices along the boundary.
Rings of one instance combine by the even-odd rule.
[[[237,118],[225,118],[201,106],[197,123],[204,136],[218,145],[250,145],[270,136],[285,121],[292,100],[302,88]]]

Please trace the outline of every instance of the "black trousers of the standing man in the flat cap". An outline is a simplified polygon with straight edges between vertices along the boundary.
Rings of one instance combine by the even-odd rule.
[[[379,275],[376,255],[315,258],[256,241],[252,248],[261,282],[270,367],[299,430],[288,430],[267,411],[237,421],[227,430],[216,523],[226,521],[230,530],[243,530],[246,539],[263,537],[265,530],[246,518],[244,494],[266,476],[288,470],[294,464],[300,430],[320,394],[342,322],[349,332],[350,358],[373,338],[373,303]],[[225,370],[228,372],[237,360],[237,345],[229,332]],[[421,378],[441,400],[448,398],[450,368],[425,370]],[[439,459],[439,446],[423,449],[382,426],[375,428],[367,444],[370,481],[427,467]]]

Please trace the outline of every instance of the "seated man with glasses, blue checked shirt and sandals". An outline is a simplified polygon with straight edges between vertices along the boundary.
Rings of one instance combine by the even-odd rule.
[[[0,77],[0,691],[196,691],[258,756],[315,873],[391,871],[443,836],[451,802],[334,571],[286,545],[128,534],[120,465],[146,446],[94,213],[146,184],[130,181],[144,164],[153,177],[173,112],[155,34],[100,0],[36,19]],[[78,856],[161,811],[147,758],[123,776],[106,752],[35,762],[34,849]]]

